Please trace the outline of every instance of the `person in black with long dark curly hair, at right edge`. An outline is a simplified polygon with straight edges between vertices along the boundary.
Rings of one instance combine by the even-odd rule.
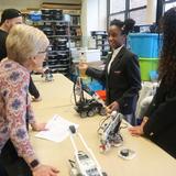
[[[129,130],[132,135],[151,139],[176,158],[176,8],[165,12],[162,30],[161,85],[141,125]]]

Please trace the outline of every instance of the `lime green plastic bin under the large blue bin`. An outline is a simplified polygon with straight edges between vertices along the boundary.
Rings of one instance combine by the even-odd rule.
[[[151,80],[151,73],[157,72],[158,58],[140,58],[142,80]]]

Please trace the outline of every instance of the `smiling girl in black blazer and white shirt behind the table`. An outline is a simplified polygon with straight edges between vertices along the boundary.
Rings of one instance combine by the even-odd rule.
[[[106,63],[103,70],[88,67],[86,63],[79,64],[90,77],[106,84],[107,106],[109,112],[118,110],[123,114],[135,111],[135,102],[141,89],[141,75],[138,56],[125,48],[125,38],[133,29],[134,21],[124,22],[113,20],[108,31],[108,40],[112,54]]]

